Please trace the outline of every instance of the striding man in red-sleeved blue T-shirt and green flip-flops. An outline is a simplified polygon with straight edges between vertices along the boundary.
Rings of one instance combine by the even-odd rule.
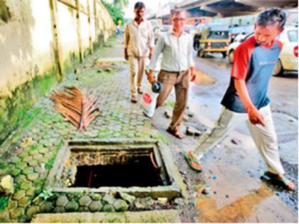
[[[241,43],[234,53],[231,82],[221,102],[223,105],[215,127],[203,134],[194,149],[185,154],[189,166],[201,171],[199,159],[213,148],[240,122],[245,122],[268,167],[264,176],[279,181],[289,190],[295,185],[284,174],[278,153],[269,98],[269,80],[278,60],[282,44],[276,40],[285,25],[285,12],[268,9],[258,15],[254,35]]]

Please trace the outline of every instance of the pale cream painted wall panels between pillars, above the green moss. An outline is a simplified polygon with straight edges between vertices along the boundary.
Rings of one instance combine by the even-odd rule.
[[[80,0],[80,5],[88,9],[88,1],[93,16],[93,0]],[[49,0],[9,0],[6,6],[12,18],[8,23],[0,19],[0,97],[10,96],[16,87],[55,66]],[[88,16],[80,12],[83,50],[90,47],[90,29],[93,41],[98,39],[95,33],[105,33],[107,39],[115,29],[112,18],[102,4],[97,3],[97,10],[100,23],[98,31],[95,30],[94,19],[89,24]],[[70,53],[78,55],[75,14],[75,9],[58,1],[57,22],[63,60],[68,60]]]

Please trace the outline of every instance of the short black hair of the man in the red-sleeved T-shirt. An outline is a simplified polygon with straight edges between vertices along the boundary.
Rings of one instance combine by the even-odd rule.
[[[262,11],[256,18],[256,24],[258,26],[273,26],[276,25],[278,28],[285,26],[286,14],[285,11],[279,8],[271,8]]]

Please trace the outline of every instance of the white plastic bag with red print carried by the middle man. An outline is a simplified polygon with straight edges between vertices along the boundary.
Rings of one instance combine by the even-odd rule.
[[[147,82],[145,92],[140,100],[140,107],[147,117],[154,116],[158,95],[159,93],[152,92],[152,84]]]

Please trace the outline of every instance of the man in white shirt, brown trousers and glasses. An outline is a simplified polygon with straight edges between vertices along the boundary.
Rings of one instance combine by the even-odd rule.
[[[184,138],[184,134],[179,132],[182,123],[184,110],[187,106],[188,88],[191,74],[191,81],[195,79],[194,61],[192,56],[193,38],[183,30],[186,22],[186,13],[182,10],[171,12],[172,31],[164,34],[157,41],[154,54],[150,61],[148,79],[152,83],[154,78],[152,73],[156,67],[158,57],[162,53],[161,70],[158,81],[162,82],[163,88],[157,99],[157,107],[167,99],[172,87],[175,89],[176,102],[172,114],[172,122],[167,132],[179,139]]]

